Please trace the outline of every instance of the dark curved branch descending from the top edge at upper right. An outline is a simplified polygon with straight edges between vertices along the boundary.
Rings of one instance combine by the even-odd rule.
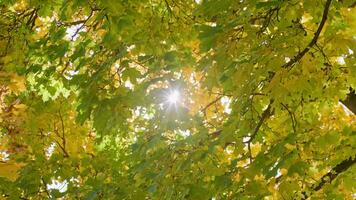
[[[292,67],[295,63],[297,63],[300,59],[303,58],[303,56],[309,52],[309,50],[317,43],[318,38],[320,36],[321,31],[323,30],[323,27],[325,25],[325,22],[328,18],[328,13],[329,13],[329,8],[332,0],[327,0],[325,3],[324,7],[324,12],[323,12],[323,17],[321,18],[321,22],[319,24],[318,30],[314,33],[313,39],[310,41],[310,43],[305,47],[305,49],[301,52],[299,52],[293,59],[291,59],[289,62],[286,64],[282,65],[282,68],[290,68]]]

